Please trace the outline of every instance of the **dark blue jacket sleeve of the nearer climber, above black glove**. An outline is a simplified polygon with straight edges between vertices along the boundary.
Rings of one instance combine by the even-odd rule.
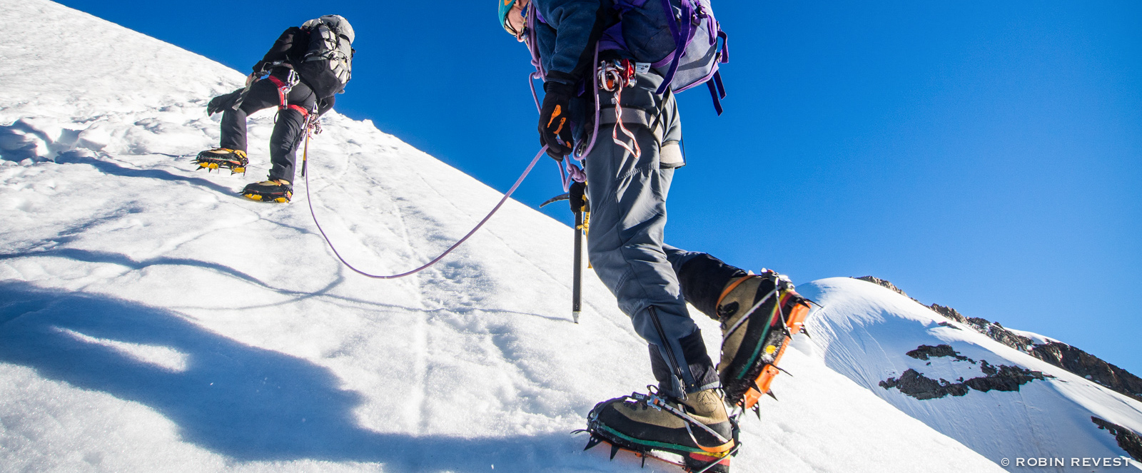
[[[537,32],[549,81],[578,82],[590,66],[595,43],[608,26],[610,1],[532,0],[542,23],[554,32]],[[606,5],[603,5],[606,3]],[[544,24],[537,24],[544,29]],[[544,34],[548,33],[548,34]],[[545,45],[546,43],[546,45]]]

